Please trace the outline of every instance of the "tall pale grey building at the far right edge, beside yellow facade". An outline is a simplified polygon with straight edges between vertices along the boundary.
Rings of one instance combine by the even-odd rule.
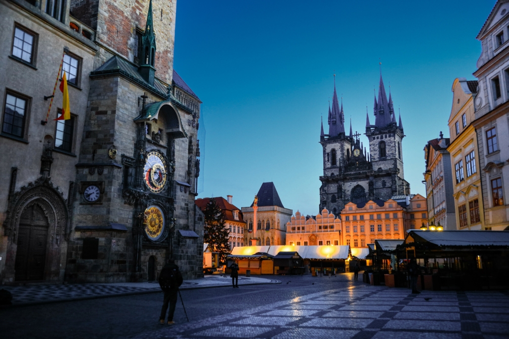
[[[509,229],[509,1],[499,0],[476,39],[482,52],[473,73],[479,173],[486,230]]]

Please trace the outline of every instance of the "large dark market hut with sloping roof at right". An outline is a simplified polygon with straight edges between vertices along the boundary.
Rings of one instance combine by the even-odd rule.
[[[509,287],[509,232],[410,230],[398,259],[426,267],[422,283],[433,290]],[[428,279],[426,275],[428,275]]]

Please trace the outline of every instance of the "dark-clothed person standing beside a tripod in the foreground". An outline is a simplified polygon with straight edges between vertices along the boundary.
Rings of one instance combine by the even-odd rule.
[[[161,309],[161,316],[159,317],[159,324],[164,324],[164,317],[166,316],[166,310],[168,309],[168,325],[173,325],[173,314],[175,313],[175,307],[177,306],[177,293],[179,287],[182,285],[182,273],[180,273],[179,266],[175,265],[175,260],[169,259],[168,263],[162,268],[159,273],[159,286],[164,292],[164,299]]]

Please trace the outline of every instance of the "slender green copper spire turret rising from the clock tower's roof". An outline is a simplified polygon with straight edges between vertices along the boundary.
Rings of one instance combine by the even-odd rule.
[[[139,73],[149,83],[154,85],[154,60],[156,53],[156,35],[152,19],[152,0],[149,3],[149,12],[147,13],[147,23],[145,32],[142,36],[142,58],[140,60]]]

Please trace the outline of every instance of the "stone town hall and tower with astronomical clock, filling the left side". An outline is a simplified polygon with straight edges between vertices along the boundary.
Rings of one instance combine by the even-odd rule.
[[[0,68],[0,143],[12,152],[2,283],[155,280],[169,258],[184,279],[202,276],[201,101],[173,69],[176,2],[50,4],[0,2],[13,37]],[[57,71],[71,119],[55,122],[62,95],[52,107],[42,97]]]

